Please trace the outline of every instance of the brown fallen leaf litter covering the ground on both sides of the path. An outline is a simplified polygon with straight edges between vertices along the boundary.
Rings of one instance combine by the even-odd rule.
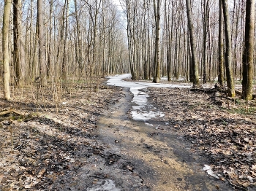
[[[216,106],[209,95],[188,89],[149,87],[147,93],[148,99],[165,112],[162,122],[166,129],[161,130],[174,130],[191,141],[192,151],[210,159],[211,163],[204,165],[209,175],[230,182],[236,189],[255,189],[255,114],[231,113],[227,110],[230,103]],[[24,95],[17,95],[20,101],[15,102],[16,109],[36,112],[31,100],[34,95],[29,95],[29,90]],[[95,187],[88,186],[88,190],[118,190],[108,174],[97,174],[93,169],[101,168],[96,164],[104,160],[105,165],[115,168],[120,163],[123,171],[133,171],[129,161],[119,162],[119,155],[105,152],[94,134],[97,117],[102,109],[118,101],[120,89],[102,86],[99,92],[87,94],[86,88],[79,88],[72,96],[64,95],[59,112],[49,95],[43,95],[44,103],[40,103],[33,120],[1,122],[0,189],[61,190],[62,183],[71,181],[61,177],[91,164],[88,176],[95,178]],[[10,109],[10,103],[1,100],[0,104]],[[105,181],[98,180],[103,178]]]

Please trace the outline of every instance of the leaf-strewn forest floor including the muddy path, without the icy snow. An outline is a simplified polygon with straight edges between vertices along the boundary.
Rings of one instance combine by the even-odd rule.
[[[135,121],[129,89],[101,80],[64,88],[58,109],[47,88],[0,100],[0,112],[29,115],[1,116],[0,190],[256,189],[255,101],[149,87],[165,116]]]

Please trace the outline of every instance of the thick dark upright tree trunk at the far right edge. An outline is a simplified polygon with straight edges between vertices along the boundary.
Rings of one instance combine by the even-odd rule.
[[[255,1],[246,1],[246,20],[243,54],[242,98],[252,99],[252,67],[254,51]]]

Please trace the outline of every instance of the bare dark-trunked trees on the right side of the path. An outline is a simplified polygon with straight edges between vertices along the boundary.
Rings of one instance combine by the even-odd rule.
[[[121,2],[132,79],[159,82],[161,74],[169,81],[184,77],[199,85],[218,78],[232,97],[234,79],[243,79],[242,98],[252,99],[255,1]]]

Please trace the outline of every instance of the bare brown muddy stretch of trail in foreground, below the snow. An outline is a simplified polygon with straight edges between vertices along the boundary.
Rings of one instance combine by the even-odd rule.
[[[161,117],[132,120],[133,95],[127,87],[122,93],[99,117],[97,146],[63,190],[233,190],[203,171],[207,159]]]

